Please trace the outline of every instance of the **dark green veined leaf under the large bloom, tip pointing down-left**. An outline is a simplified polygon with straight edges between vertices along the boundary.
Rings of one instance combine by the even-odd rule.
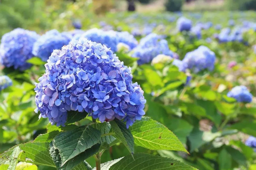
[[[61,166],[94,144],[99,143],[100,137],[101,132],[91,126],[59,133],[53,139],[53,144],[61,155]]]

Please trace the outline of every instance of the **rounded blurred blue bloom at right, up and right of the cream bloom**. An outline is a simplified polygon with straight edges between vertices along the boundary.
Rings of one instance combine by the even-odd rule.
[[[198,73],[208,69],[212,71],[215,63],[215,53],[206,46],[201,45],[194,51],[188,52],[182,60],[185,68],[191,69]]]

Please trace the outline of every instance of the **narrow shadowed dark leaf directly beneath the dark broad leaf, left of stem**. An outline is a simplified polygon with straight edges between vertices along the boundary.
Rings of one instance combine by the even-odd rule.
[[[66,164],[64,164],[62,167],[60,167],[60,170],[71,170],[74,167],[81,164],[85,159],[89,158],[90,156],[93,156],[99,151],[100,144],[95,144],[91,148],[85,150],[84,152],[80,153],[78,156],[74,157],[73,159],[70,159],[67,161]],[[80,165],[80,167],[83,167]]]

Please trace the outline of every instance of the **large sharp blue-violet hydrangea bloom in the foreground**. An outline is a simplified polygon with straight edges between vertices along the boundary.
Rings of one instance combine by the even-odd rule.
[[[127,127],[145,114],[143,90],[132,83],[131,68],[105,45],[80,38],[53,51],[36,84],[39,117],[62,125],[67,111],[86,111],[101,122],[124,119]]]

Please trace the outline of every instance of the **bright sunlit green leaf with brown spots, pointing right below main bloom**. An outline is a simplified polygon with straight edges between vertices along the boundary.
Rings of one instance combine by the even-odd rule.
[[[187,150],[179,139],[167,127],[149,118],[143,117],[130,127],[135,144],[150,150]]]

